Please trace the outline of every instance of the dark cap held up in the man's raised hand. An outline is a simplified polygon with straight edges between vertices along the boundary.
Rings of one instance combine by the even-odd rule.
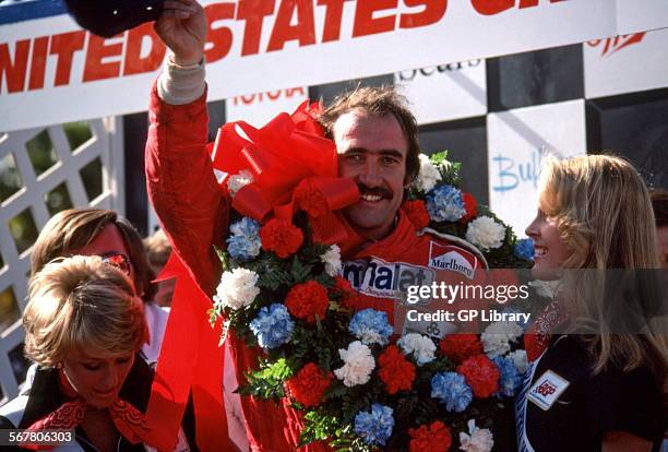
[[[65,0],[83,28],[104,37],[118,35],[163,13],[163,0]]]

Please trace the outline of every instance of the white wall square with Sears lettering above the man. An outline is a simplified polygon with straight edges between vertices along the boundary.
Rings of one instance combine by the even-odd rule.
[[[394,74],[418,124],[482,116],[487,112],[485,60],[411,69]]]

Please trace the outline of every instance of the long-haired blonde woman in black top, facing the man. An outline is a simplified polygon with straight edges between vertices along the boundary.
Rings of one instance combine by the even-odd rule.
[[[550,160],[526,234],[536,247],[534,276],[561,284],[526,337],[533,361],[516,400],[520,450],[658,451],[666,425],[665,318],[647,308],[658,305],[641,302],[643,314],[655,318],[631,323],[610,306],[619,301],[611,288],[618,275],[659,266],[652,205],[637,171],[605,155]]]

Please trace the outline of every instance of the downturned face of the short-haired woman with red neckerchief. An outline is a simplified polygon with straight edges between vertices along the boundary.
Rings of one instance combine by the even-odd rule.
[[[79,396],[102,409],[118,399],[133,364],[134,354],[99,357],[70,350],[62,360],[62,372]]]

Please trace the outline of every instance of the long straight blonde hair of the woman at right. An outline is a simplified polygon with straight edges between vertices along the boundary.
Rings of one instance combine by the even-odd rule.
[[[645,322],[641,334],[619,333],[610,326],[604,297],[613,270],[659,269],[652,203],[635,168],[610,155],[550,158],[541,173],[539,206],[557,221],[571,251],[562,265],[564,301],[574,325],[586,324],[589,331],[594,325],[595,334],[586,340],[596,357],[594,371],[615,361],[627,371],[647,365],[663,378],[668,362],[665,319]]]

